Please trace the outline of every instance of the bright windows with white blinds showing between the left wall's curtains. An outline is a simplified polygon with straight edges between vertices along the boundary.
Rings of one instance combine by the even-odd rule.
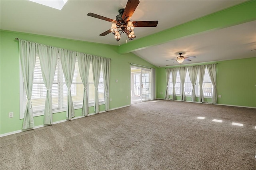
[[[22,77],[22,73],[20,71],[20,76]],[[20,85],[23,89],[23,94],[20,100],[20,119],[23,119],[23,113],[26,109],[27,104],[27,97],[26,91],[23,84],[23,78],[21,79]],[[88,99],[89,99],[89,106],[94,105],[94,82],[93,82],[93,73],[92,73],[92,64],[90,63],[90,72],[89,72],[89,86],[88,86]],[[40,60],[38,55],[36,56],[36,65],[34,70],[34,80],[33,80],[33,89],[32,89],[32,107],[33,107],[33,115],[39,116],[44,114],[44,107],[45,107],[45,99],[46,99],[46,87],[44,85],[42,71],[40,66]],[[78,60],[76,59],[75,70],[74,70],[74,77],[72,80],[72,85],[70,88],[72,101],[74,105],[74,109],[81,109],[83,103],[83,96],[84,96],[84,85],[82,83],[79,67],[78,67]],[[102,66],[100,70],[100,82],[98,85],[98,92],[99,92],[99,103],[104,104],[105,102],[105,93],[104,93],[104,79],[103,79],[103,72]],[[66,86],[64,74],[62,72],[61,61],[60,57],[58,57],[57,64],[56,64],[56,71],[54,75],[54,81],[52,84],[52,109],[53,113],[58,113],[61,111],[66,111],[67,107],[67,94],[68,88]]]

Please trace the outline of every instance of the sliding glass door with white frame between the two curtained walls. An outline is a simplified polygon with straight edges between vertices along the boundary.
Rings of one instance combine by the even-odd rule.
[[[152,71],[131,66],[131,104],[148,100],[152,100]]]

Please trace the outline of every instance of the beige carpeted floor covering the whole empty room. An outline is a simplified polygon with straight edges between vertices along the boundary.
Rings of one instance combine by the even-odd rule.
[[[148,101],[4,136],[0,169],[254,170],[255,127],[256,109]]]

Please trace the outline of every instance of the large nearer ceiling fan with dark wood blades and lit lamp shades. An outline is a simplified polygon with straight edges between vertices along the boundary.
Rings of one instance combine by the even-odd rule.
[[[106,18],[104,16],[100,16],[90,12],[87,15],[108,22],[112,22],[111,29],[103,32],[102,34],[100,34],[100,36],[106,36],[107,34],[112,32],[116,41],[119,41],[120,35],[122,33],[125,33],[128,36],[129,40],[133,40],[133,38],[136,38],[133,31],[134,27],[156,27],[158,24],[158,21],[130,21],[132,14],[134,13],[139,3],[140,1],[138,0],[128,0],[125,9],[118,10],[119,15],[116,16],[116,20],[112,20],[110,18]],[[118,30],[118,28],[120,28],[120,30]]]

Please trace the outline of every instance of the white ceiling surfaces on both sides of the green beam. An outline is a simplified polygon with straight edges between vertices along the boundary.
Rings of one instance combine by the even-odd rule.
[[[131,20],[158,20],[157,27],[135,28],[136,39],[154,34],[179,24],[206,16],[213,12],[240,4],[244,0],[140,0]],[[110,22],[87,16],[88,12],[115,19],[118,10],[126,6],[126,0],[68,0],[62,10],[56,10],[28,0],[0,0],[0,28],[59,38],[119,45],[110,33]],[[130,41],[130,40],[128,40]],[[121,44],[126,37],[121,35]],[[221,61],[255,57],[256,21],[173,40],[148,47],[134,53],[153,65],[163,67],[177,65],[166,61],[178,56],[196,56],[189,63]],[[182,64],[187,64],[183,62]]]

